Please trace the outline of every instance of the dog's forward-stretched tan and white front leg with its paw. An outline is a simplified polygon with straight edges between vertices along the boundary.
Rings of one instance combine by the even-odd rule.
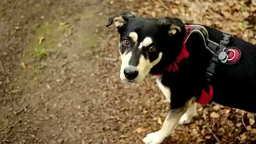
[[[147,134],[143,139],[143,142],[145,144],[161,144],[167,136],[170,136],[182,115],[186,112],[188,107],[191,107],[191,105],[192,100],[187,101],[187,103],[181,108],[171,109],[164,120],[162,128],[157,132]]]

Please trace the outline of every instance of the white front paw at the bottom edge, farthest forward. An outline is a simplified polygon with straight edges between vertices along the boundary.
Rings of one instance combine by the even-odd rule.
[[[152,132],[146,135],[145,138],[143,138],[144,144],[161,144],[165,139],[165,136],[162,134],[162,132]]]

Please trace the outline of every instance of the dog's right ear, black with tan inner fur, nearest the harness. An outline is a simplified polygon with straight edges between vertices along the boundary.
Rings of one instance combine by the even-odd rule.
[[[185,25],[179,18],[159,18],[158,24],[167,27],[169,35],[174,35],[176,33],[181,33]]]

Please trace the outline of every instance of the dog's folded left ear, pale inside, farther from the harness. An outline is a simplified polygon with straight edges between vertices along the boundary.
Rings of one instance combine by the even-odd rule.
[[[113,23],[117,28],[120,28],[121,26],[123,26],[125,24],[125,22],[129,19],[129,18],[134,18],[135,16],[129,12],[123,12],[122,14],[119,14],[117,16],[113,16],[108,18],[108,24],[106,25],[106,27],[111,26]]]

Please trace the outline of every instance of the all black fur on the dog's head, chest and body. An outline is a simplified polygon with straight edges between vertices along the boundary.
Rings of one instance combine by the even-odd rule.
[[[183,39],[186,36],[185,24],[178,18],[136,18],[125,16],[125,14],[122,17],[126,22],[118,27],[120,41],[128,32],[135,31],[141,37],[154,37],[154,43],[158,48],[155,54],[160,51],[163,53],[162,59],[152,67],[150,74],[162,73],[161,83],[169,87],[172,94],[170,107],[177,109],[183,107],[192,97],[198,99],[202,88],[207,84],[205,73],[212,58],[212,53],[204,45],[202,35],[191,34],[186,41],[189,57],[180,61],[178,71],[168,72],[165,68],[171,65],[180,54]],[[181,32],[176,29],[177,33],[170,35],[168,31],[171,25],[179,26]],[[208,39],[220,43],[223,38],[221,31],[208,26],[204,28],[208,31]],[[140,37],[138,39],[140,41]],[[256,105],[256,45],[231,37],[227,46],[237,47],[242,52],[242,56],[234,65],[221,63],[216,65],[210,83],[214,91],[212,101],[256,113],[254,106]]]

